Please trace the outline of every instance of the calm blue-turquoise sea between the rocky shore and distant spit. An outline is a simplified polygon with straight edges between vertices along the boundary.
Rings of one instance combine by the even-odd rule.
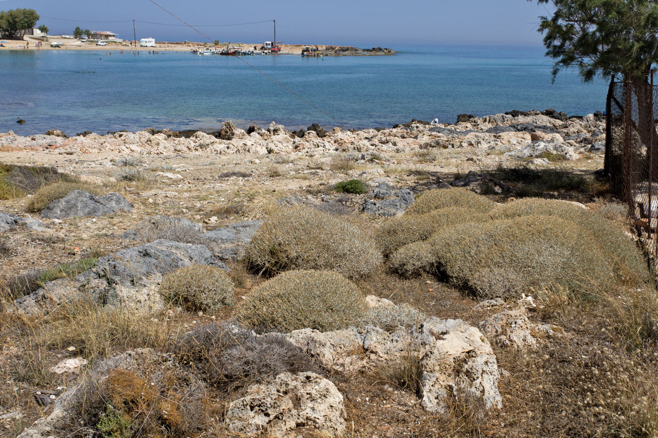
[[[561,72],[553,81],[543,47],[393,49],[393,56],[322,58],[0,51],[0,132],[214,130],[225,120],[363,129],[412,119],[454,123],[463,113],[605,109],[603,79],[583,83]]]

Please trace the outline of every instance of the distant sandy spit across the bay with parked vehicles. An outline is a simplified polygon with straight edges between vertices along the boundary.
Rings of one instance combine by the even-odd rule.
[[[236,45],[241,46],[244,49],[253,49],[253,47],[261,47],[263,43],[230,43],[223,42],[219,45],[211,43],[199,43],[195,41],[156,41],[156,47],[135,47],[135,45],[130,45],[130,42],[134,44],[134,41],[123,41],[118,43],[116,41],[104,41],[107,45],[97,46],[95,42],[86,42],[83,43],[78,39],[69,39],[62,38],[57,36],[48,36],[45,38],[36,38],[36,37],[26,37],[24,41],[21,40],[6,40],[2,39],[0,41],[7,41],[3,43],[5,47],[0,47],[0,51],[5,50],[89,50],[89,51],[163,51],[163,52],[190,52],[193,49],[199,49],[203,47],[226,47],[227,45]],[[43,41],[43,46],[37,49],[36,44],[39,41]],[[61,43],[61,47],[50,47],[51,43],[58,42]],[[25,49],[26,44],[30,43],[30,47]],[[281,44],[281,52],[279,55],[301,55],[303,47],[316,47],[322,51],[323,56],[390,56],[395,55],[395,51],[388,48],[382,47],[372,47],[370,49],[361,49],[354,46],[346,45],[329,45],[329,44]]]

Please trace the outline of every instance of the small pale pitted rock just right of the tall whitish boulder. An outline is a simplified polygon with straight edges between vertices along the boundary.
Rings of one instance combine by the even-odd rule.
[[[506,310],[480,322],[480,330],[501,348],[526,349],[536,347],[544,336],[555,335],[550,324],[534,324],[523,308]]]

